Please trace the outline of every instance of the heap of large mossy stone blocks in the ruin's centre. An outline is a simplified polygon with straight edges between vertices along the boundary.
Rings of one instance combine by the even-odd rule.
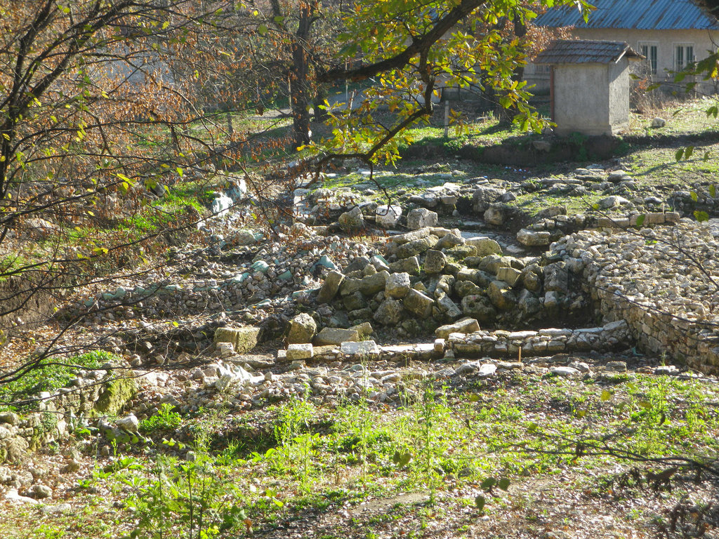
[[[405,337],[463,316],[509,328],[576,319],[587,310],[572,286],[582,269],[580,259],[505,256],[493,239],[423,227],[391,236],[384,256],[357,257],[344,273],[329,272],[317,296],[329,303],[318,309],[319,323],[370,321]]]

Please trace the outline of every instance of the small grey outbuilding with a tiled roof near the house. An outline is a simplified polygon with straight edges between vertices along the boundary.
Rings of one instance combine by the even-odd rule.
[[[629,121],[629,62],[644,58],[625,42],[559,40],[535,58],[549,65],[557,134],[616,134]]]

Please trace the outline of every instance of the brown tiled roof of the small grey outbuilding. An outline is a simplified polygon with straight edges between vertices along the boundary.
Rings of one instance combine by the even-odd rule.
[[[559,40],[539,53],[535,64],[582,64],[617,62],[621,57],[643,58],[621,41]]]

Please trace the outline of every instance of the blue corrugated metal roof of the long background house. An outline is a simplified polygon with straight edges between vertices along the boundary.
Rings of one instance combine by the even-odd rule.
[[[716,17],[692,0],[593,0],[597,9],[589,22],[577,8],[552,8],[534,21],[537,26],[577,28],[632,28],[641,30],[719,29]]]

